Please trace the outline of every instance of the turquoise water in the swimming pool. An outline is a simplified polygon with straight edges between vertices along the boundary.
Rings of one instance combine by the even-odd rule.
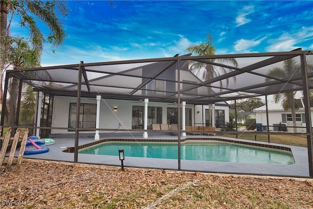
[[[181,160],[217,161],[230,163],[294,164],[291,152],[227,142],[182,142]],[[125,157],[178,159],[177,143],[164,142],[104,142],[79,150],[80,154],[118,156],[124,149]]]

